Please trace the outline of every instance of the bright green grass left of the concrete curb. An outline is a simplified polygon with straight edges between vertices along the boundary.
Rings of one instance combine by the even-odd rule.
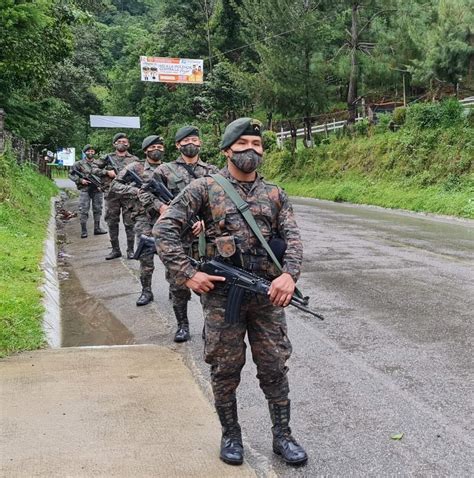
[[[0,356],[44,345],[40,263],[57,188],[0,155]]]

